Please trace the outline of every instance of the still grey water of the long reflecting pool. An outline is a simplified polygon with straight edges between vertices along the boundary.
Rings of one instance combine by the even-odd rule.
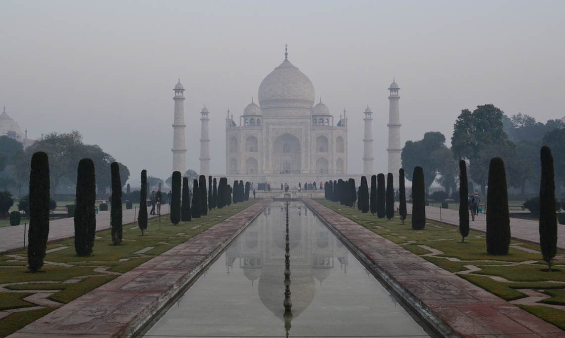
[[[145,337],[430,337],[301,202],[273,202]],[[288,322],[289,316],[286,315]]]

